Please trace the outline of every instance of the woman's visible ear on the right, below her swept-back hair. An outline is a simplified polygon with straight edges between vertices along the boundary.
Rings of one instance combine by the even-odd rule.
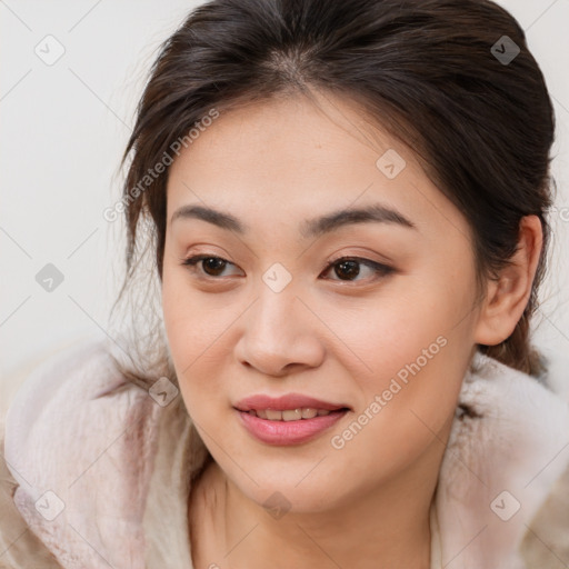
[[[487,281],[487,295],[475,330],[475,341],[496,346],[506,340],[528,305],[543,246],[541,221],[526,216],[520,221],[518,250],[498,279]]]

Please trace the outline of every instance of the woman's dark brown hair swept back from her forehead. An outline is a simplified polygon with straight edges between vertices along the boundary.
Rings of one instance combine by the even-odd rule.
[[[507,37],[507,38],[503,38]],[[511,60],[500,53],[519,49]],[[168,168],[133,199],[172,143],[217,109],[310,90],[361,103],[421,160],[469,221],[479,276],[496,277],[516,251],[523,216],[545,247],[513,333],[479,349],[538,375],[529,341],[543,277],[551,204],[553,111],[523,30],[488,0],[212,0],[163,43],[137,110],[123,163],[127,281],[150,222],[161,279]],[[214,128],[214,127],[213,127]]]

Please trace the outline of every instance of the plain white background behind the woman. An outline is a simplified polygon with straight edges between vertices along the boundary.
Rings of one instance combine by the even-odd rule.
[[[0,397],[39,360],[103,333],[122,262],[119,160],[160,43],[200,2],[0,0]],[[569,352],[569,0],[500,1],[527,31],[556,104],[556,256],[537,343]],[[64,47],[47,66],[46,36]],[[47,263],[63,282],[44,291]],[[559,380],[557,380],[559,382]],[[567,381],[559,387],[569,392]],[[1,402],[1,401],[0,401]],[[0,408],[2,406],[0,405]]]

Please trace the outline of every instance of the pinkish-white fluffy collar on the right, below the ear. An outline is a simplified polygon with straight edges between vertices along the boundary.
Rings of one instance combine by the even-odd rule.
[[[437,491],[446,557],[483,527],[476,548],[480,567],[489,559],[493,566],[513,566],[503,557],[512,551],[530,561],[520,543],[540,508],[549,516],[548,496],[568,475],[569,406],[548,387],[562,379],[548,375],[546,382],[476,353],[461,387]],[[567,536],[567,516],[549,520],[550,528],[557,526]],[[543,547],[543,531],[539,533]],[[475,552],[469,548],[465,555],[472,558]],[[551,562],[528,567],[545,569]]]

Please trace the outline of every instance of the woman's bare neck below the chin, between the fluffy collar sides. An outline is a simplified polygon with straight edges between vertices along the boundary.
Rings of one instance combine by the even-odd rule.
[[[359,496],[318,512],[276,519],[214,462],[192,491],[190,536],[196,569],[274,566],[338,569],[430,567],[430,507],[443,447]]]

